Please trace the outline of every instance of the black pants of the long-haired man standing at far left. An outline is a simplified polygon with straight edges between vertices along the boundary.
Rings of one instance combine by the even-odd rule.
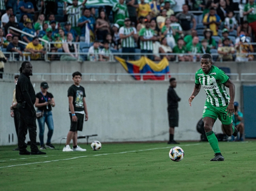
[[[18,146],[19,150],[25,150],[27,144],[25,143],[27,130],[29,130],[29,138],[31,141],[30,149],[32,152],[37,152],[37,124],[35,123],[36,116],[31,109],[22,108],[22,104],[18,103],[17,109],[19,111],[19,132],[18,132]]]

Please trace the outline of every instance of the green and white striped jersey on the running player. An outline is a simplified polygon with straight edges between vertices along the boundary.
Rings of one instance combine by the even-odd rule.
[[[201,84],[206,92],[207,99],[211,105],[221,107],[229,104],[230,97],[227,95],[223,85],[229,80],[229,77],[218,67],[212,66],[208,74],[204,74],[200,69],[196,72],[196,84]]]

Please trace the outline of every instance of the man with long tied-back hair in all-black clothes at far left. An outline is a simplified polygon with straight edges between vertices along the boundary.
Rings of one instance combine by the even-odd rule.
[[[39,151],[37,148],[37,125],[35,123],[35,91],[30,82],[30,75],[32,74],[32,65],[30,62],[23,62],[19,71],[20,76],[16,83],[16,100],[18,102],[17,109],[19,112],[19,132],[18,132],[18,146],[19,155],[44,155],[45,152]],[[25,143],[27,129],[29,130],[29,138],[31,141],[31,153],[27,151],[27,144]]]

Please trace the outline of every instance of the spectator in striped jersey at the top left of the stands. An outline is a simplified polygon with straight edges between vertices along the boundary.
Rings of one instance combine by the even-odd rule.
[[[73,0],[72,5],[66,7],[67,2],[64,2],[64,15],[68,15],[68,22],[71,23],[71,27],[76,30],[80,35],[80,27],[78,27],[78,20],[82,16],[82,9],[87,0],[84,0],[82,4],[78,5],[78,0]]]

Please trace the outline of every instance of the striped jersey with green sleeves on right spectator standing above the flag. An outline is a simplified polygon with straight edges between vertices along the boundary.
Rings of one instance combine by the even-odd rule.
[[[153,31],[151,28],[142,28],[139,31],[139,36],[143,36],[144,39],[150,39],[154,36],[155,31]],[[141,50],[153,50],[153,41],[142,41],[140,40],[140,49]]]

